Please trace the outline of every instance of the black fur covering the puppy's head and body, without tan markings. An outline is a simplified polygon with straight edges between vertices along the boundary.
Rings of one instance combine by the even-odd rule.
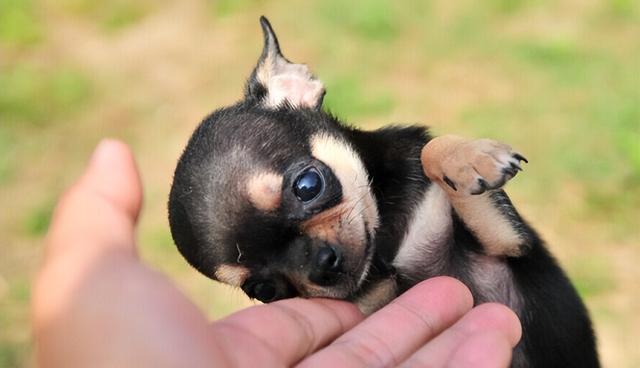
[[[261,60],[269,52],[269,42],[281,56],[266,19],[262,26],[265,50]],[[306,271],[312,267],[309,260],[316,245],[301,237],[297,226],[341,198],[339,182],[330,185],[334,192],[314,208],[296,207],[296,201],[286,197],[293,177],[290,171],[313,159],[309,139],[324,132],[347,142],[356,151],[369,175],[380,214],[375,239],[370,239],[375,252],[371,272],[360,289],[347,298],[356,298],[388,278],[397,281],[401,293],[426,278],[450,275],[469,286],[476,303],[497,301],[515,309],[522,322],[523,338],[514,353],[513,366],[599,366],[584,305],[543,241],[521,218],[504,191],[493,191],[491,200],[522,236],[526,251],[519,257],[494,261],[507,267],[507,281],[518,294],[517,302],[500,300],[478,283],[478,260],[486,256],[477,237],[455,211],[451,233],[446,235],[437,257],[424,261],[423,267],[413,272],[398,273],[393,260],[414,210],[425,191],[436,185],[425,177],[420,161],[421,150],[431,139],[428,131],[418,126],[362,131],[320,109],[321,99],[318,106],[308,108],[293,107],[286,101],[277,108],[267,108],[261,103],[267,93],[254,71],[244,100],[209,115],[194,132],[178,162],[169,196],[169,220],[178,249],[196,269],[214,277],[213,271],[223,263],[259,264],[261,271],[246,281],[245,291],[256,280],[271,277],[276,279],[279,298],[297,295],[295,287],[271,271],[292,267]],[[247,175],[264,168],[285,177],[283,202],[273,213],[243,205],[246,201],[236,189]]]

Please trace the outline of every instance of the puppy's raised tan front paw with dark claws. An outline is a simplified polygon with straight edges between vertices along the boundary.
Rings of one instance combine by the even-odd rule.
[[[510,146],[491,139],[445,135],[422,149],[424,171],[451,195],[477,195],[502,187],[527,162]]]

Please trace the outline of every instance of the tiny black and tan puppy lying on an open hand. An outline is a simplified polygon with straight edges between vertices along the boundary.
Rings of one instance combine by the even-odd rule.
[[[453,276],[476,304],[518,314],[514,367],[598,366],[584,305],[500,189],[524,158],[487,139],[343,124],[261,24],[244,99],[200,124],[175,171],[169,220],[187,261],[263,302],[341,298],[366,313]]]

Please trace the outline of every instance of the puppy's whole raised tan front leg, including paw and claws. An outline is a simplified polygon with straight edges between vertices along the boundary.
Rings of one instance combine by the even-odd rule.
[[[500,190],[521,170],[520,161],[526,160],[511,147],[489,139],[445,135],[422,150],[427,177],[447,192],[488,255],[519,256],[530,245],[531,230]]]

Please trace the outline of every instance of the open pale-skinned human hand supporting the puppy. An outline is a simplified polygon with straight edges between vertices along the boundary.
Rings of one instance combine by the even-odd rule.
[[[212,322],[138,259],[141,204],[130,150],[103,141],[47,236],[32,304],[40,366],[506,367],[520,339],[512,311],[473,308],[469,290],[445,277],[367,319],[344,301],[289,299]]]

